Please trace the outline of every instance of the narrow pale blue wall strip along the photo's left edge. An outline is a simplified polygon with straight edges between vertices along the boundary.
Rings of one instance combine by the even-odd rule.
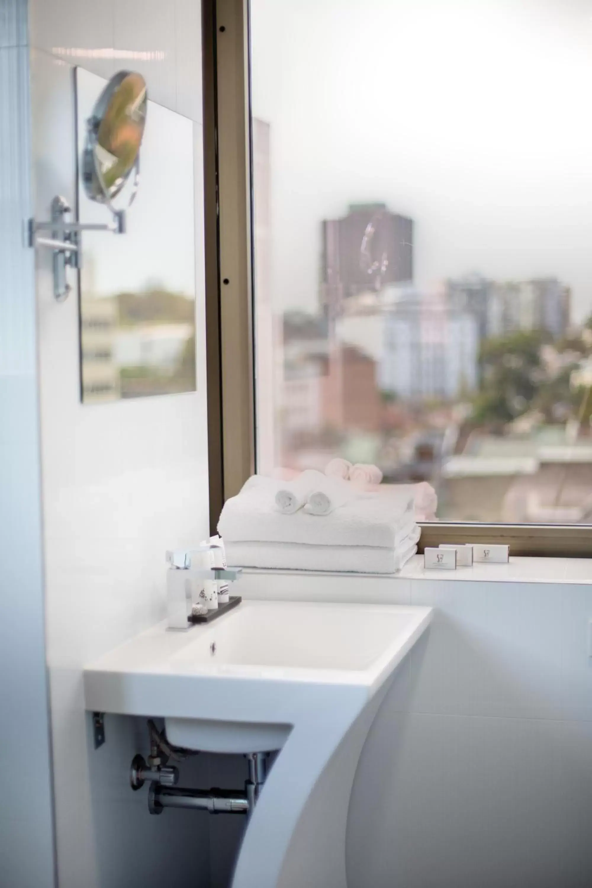
[[[52,888],[26,17],[0,0],[0,884]]]

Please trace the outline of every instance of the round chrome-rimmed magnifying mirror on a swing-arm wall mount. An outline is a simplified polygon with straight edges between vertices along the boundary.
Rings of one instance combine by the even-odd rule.
[[[88,121],[83,153],[83,182],[93,201],[112,201],[134,172],[127,205],[138,187],[139,149],[146,124],[146,81],[133,71],[115,74],[93,109]]]

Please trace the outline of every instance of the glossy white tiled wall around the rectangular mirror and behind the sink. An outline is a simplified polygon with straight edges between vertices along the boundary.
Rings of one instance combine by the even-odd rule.
[[[173,110],[180,78],[185,114],[192,110],[197,117],[199,110],[199,122],[199,17],[199,4],[180,0],[33,0],[37,216],[47,216],[54,194],[70,202],[75,196],[72,65],[103,76],[121,67],[141,70],[151,98]],[[179,56],[178,39],[183,44]],[[185,82],[190,76],[193,83]],[[107,743],[95,751],[82,686],[84,662],[162,618],[164,550],[193,544],[209,528],[199,123],[194,133],[197,392],[80,404],[76,299],[56,304],[50,258],[37,252],[60,888],[201,888],[209,883],[207,819],[198,825],[184,813],[149,816],[146,793],[130,791],[127,773],[133,753],[146,753],[143,725],[108,718]]]

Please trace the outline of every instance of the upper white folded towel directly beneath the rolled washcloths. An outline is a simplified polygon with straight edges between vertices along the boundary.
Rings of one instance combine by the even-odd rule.
[[[285,485],[281,485],[282,488]],[[274,508],[276,480],[254,475],[227,500],[217,529],[227,542],[308,543],[394,549],[414,525],[413,491],[345,503],[325,519],[304,509],[282,516]]]

